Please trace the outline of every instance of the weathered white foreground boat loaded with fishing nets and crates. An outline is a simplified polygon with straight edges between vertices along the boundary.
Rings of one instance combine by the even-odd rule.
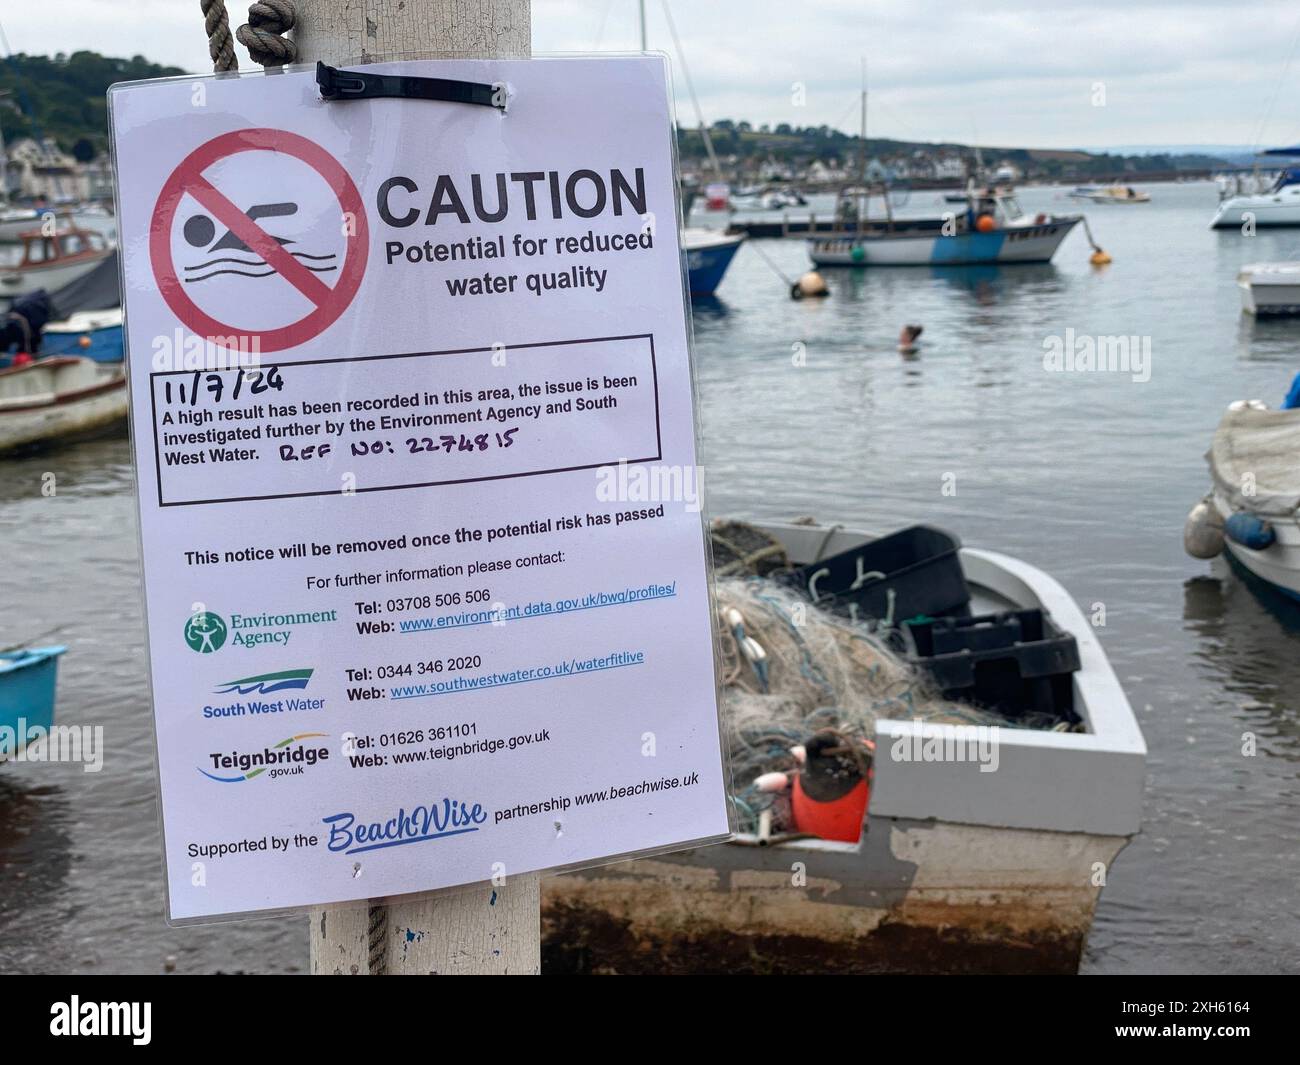
[[[763,524],[797,563],[870,542]],[[1000,766],[881,757],[923,726],[876,723],[857,843],[764,840],[567,873],[542,884],[543,967],[616,973],[1072,973],[1105,873],[1139,831],[1147,748],[1106,654],[1041,570],[965,547],[975,612],[1040,609],[1078,641],[1083,732],[1004,730]]]

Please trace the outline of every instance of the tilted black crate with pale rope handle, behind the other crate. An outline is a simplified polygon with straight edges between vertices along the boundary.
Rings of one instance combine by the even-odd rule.
[[[950,532],[911,525],[802,566],[790,579],[823,610],[857,620],[968,616],[961,546]]]

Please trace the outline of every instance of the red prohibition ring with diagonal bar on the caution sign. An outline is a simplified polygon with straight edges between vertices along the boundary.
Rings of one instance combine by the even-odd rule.
[[[203,172],[222,159],[239,152],[282,152],[302,160],[311,166],[338,198],[341,220],[351,217],[354,225],[346,233],[347,246],[338,281],[333,287],[306,269],[261,226],[216,186]],[[176,212],[183,196],[196,199],[212,216],[226,226],[235,237],[257,252],[281,277],[309,299],[315,308],[289,325],[277,329],[240,329],[230,322],[217,321],[186,294],[176,263],[172,256],[172,226]],[[153,208],[153,225],[150,229],[150,259],[159,291],[166,306],[191,332],[200,337],[222,338],[231,333],[256,341],[260,351],[282,351],[296,347],[325,332],[338,316],[347,309],[361,285],[365,274],[365,257],[369,250],[369,229],[361,196],[347,170],[329,152],[306,137],[296,133],[272,129],[237,130],[216,137],[187,155],[172,177],[162,185],[157,204]]]

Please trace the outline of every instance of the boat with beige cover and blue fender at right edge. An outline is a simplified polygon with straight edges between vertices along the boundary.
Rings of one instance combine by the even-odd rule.
[[[1300,599],[1300,410],[1236,401],[1206,454],[1209,494],[1192,507],[1183,546],[1221,553],[1280,594]]]

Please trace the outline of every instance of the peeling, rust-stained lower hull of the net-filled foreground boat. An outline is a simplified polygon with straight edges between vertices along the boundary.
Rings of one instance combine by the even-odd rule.
[[[566,874],[542,884],[542,966],[1074,973],[1097,869],[1126,843],[874,818],[861,847],[724,844]]]

